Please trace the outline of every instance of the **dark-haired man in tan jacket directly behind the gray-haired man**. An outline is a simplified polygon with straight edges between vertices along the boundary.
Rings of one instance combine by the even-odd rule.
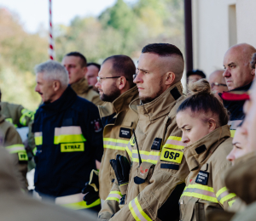
[[[95,105],[102,105],[102,100],[92,86],[84,78],[87,72],[87,61],[83,54],[71,52],[64,56],[61,62],[68,71],[69,84],[79,97],[88,99]]]

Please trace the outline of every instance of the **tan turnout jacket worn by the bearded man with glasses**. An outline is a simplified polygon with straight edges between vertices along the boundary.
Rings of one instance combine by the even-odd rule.
[[[125,155],[125,146],[129,143],[132,128],[137,126],[137,112],[131,110],[130,103],[137,99],[137,86],[121,94],[113,103],[105,102],[98,106],[104,126],[104,153],[99,173],[100,198],[106,200],[113,186],[115,174],[109,161],[116,156]],[[136,107],[135,107],[136,108]]]

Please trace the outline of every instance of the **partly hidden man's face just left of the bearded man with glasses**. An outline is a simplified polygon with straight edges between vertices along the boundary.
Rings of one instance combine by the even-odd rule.
[[[96,93],[98,92],[98,88],[96,88],[96,82],[97,82],[97,77],[98,73],[101,70],[101,65],[96,64],[94,62],[88,63],[87,64],[87,72],[85,74],[85,78],[87,79],[89,85],[93,86],[94,91]]]

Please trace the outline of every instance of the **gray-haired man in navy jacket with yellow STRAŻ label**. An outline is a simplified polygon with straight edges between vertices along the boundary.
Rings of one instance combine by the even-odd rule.
[[[100,199],[87,203],[81,190],[90,182],[90,172],[96,172],[96,160],[102,159],[98,110],[68,86],[68,73],[60,63],[49,60],[35,71],[35,91],[44,102],[32,127],[37,145],[35,195],[50,196],[64,207],[97,211]]]

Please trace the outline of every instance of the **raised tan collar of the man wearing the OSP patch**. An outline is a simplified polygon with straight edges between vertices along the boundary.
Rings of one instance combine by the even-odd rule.
[[[160,116],[168,114],[175,105],[175,101],[179,99],[182,94],[182,83],[177,82],[172,85],[172,87],[167,88],[163,94],[160,94],[160,96],[153,101],[145,105],[138,105],[137,112],[139,116],[148,116],[149,121],[155,120]]]

